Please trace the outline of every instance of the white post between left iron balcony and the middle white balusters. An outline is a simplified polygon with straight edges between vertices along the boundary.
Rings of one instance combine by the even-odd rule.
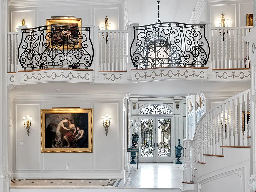
[[[94,58],[93,58],[93,74],[94,74],[94,81],[99,80],[99,71],[100,71],[100,64],[99,64],[99,27],[93,27],[93,49],[94,49]]]

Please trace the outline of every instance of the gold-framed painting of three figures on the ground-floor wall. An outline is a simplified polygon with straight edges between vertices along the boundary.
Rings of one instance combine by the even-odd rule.
[[[41,153],[92,153],[92,109],[41,109]]]

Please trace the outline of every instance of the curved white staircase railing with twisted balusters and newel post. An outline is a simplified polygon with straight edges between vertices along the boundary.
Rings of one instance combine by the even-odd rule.
[[[183,183],[193,182],[189,174],[196,162],[205,164],[205,155],[222,155],[222,146],[250,146],[251,126],[244,113],[248,106],[251,110],[250,103],[249,89],[223,101],[200,118],[193,139],[183,140],[186,150]]]

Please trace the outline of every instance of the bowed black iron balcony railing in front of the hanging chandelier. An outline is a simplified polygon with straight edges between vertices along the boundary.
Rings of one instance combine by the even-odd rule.
[[[130,49],[133,65],[137,69],[204,67],[210,53],[205,26],[168,22],[134,27]]]

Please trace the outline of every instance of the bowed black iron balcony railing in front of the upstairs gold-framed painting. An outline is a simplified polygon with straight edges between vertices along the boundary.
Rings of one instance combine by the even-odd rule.
[[[60,25],[22,29],[18,59],[24,70],[88,69],[94,56],[90,27]]]

